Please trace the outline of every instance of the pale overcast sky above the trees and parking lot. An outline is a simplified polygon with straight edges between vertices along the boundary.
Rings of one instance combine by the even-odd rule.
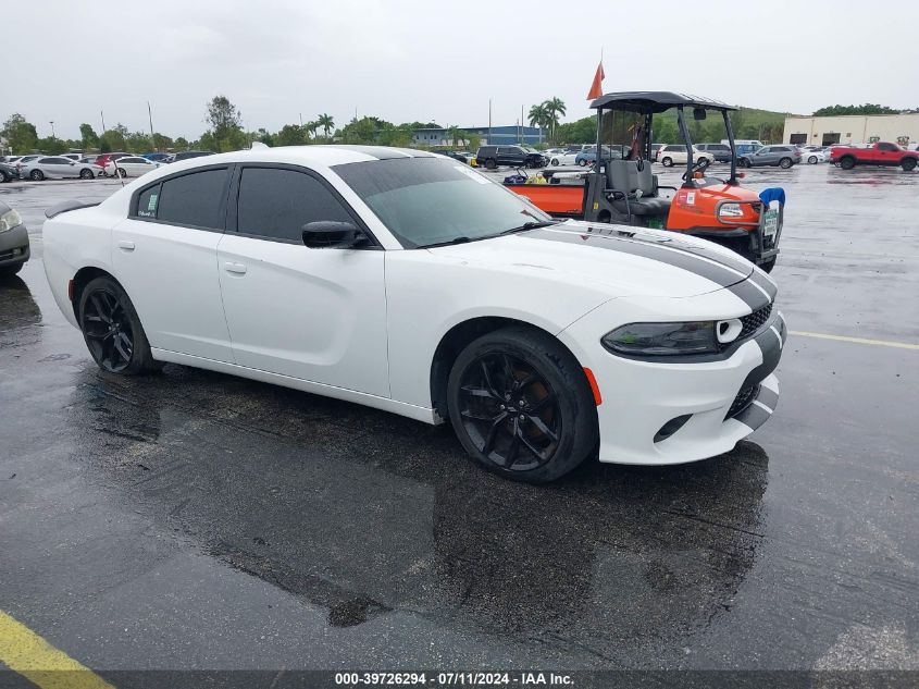
[[[223,94],[247,130],[357,112],[390,122],[514,124],[557,96],[563,121],[604,90],[675,90],[809,114],[834,103],[919,107],[916,0],[41,0],[4,2],[16,46],[0,122],[39,136],[149,130],[197,138]],[[41,40],[42,36],[49,40]],[[9,45],[8,45],[9,47]]]

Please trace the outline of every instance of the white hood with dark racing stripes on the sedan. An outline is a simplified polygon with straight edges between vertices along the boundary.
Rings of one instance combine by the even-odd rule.
[[[704,239],[578,221],[429,250],[473,267],[603,288],[610,297],[695,296],[753,273],[750,262]]]

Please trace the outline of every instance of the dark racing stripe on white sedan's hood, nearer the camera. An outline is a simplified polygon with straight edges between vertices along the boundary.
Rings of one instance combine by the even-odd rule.
[[[531,230],[530,232],[518,236],[531,239],[563,242],[566,244],[580,244],[582,246],[589,244],[591,246],[600,249],[608,249],[620,254],[630,254],[632,256],[641,256],[642,258],[667,263],[668,266],[673,266],[674,268],[681,268],[682,270],[699,275],[700,278],[710,280],[720,287],[729,287],[737,281],[743,281],[746,275],[746,273],[738,275],[733,270],[712,262],[715,259],[705,260],[699,256],[682,250],[681,247],[665,248],[657,242],[645,242],[642,239],[632,241],[610,236],[608,234],[599,234],[597,232],[578,233],[571,231],[559,232],[555,230]],[[753,288],[755,290],[755,287]]]

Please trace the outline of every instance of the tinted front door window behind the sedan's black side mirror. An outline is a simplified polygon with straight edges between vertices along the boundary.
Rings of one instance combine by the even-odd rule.
[[[303,225],[308,222],[353,222],[325,185],[296,170],[244,168],[238,204],[240,233],[297,244],[303,241]]]

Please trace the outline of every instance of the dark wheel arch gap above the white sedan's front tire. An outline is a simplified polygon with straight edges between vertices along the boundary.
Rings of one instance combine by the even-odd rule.
[[[513,325],[532,330],[551,337],[558,342],[559,345],[561,345],[575,361],[579,362],[579,366],[581,366],[581,360],[578,355],[572,352],[568,344],[566,344],[555,333],[551,333],[545,328],[541,328],[534,323],[505,316],[477,316],[460,321],[444,333],[440,341],[437,343],[437,347],[434,349],[434,356],[431,360],[431,406],[442,419],[449,418],[447,413],[447,381],[449,379],[454,361],[456,361],[459,354],[467,347],[467,345],[482,335],[500,330],[501,328]],[[584,383],[589,387],[591,382],[587,380],[587,376],[583,376]]]

